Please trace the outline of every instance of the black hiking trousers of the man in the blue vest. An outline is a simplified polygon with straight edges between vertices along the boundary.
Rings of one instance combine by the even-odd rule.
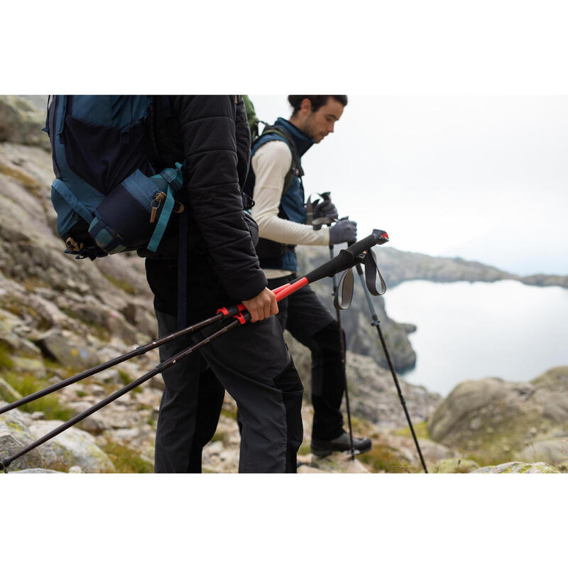
[[[295,280],[296,275],[268,280],[273,290]],[[342,435],[340,410],[344,392],[339,327],[310,286],[278,302],[278,322],[282,329],[312,351],[312,439],[330,440]]]

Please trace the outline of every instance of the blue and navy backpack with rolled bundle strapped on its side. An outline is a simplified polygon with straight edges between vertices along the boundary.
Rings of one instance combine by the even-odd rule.
[[[58,233],[76,258],[155,251],[182,187],[182,165],[155,171],[155,99],[147,95],[55,95],[48,99]]]

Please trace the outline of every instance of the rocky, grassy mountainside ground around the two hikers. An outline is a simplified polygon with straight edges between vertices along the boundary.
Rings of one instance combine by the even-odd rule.
[[[53,170],[48,144],[45,136],[38,135],[44,119],[42,111],[25,101],[0,97],[0,405],[131,351],[151,341],[156,333],[152,296],[140,258],[121,254],[91,262],[76,261],[62,253],[50,203]],[[380,259],[393,254],[398,258],[400,253],[394,249],[384,252],[379,251]],[[326,251],[319,254],[322,261],[327,260]],[[302,253],[306,263],[316,263],[316,256],[309,250]],[[408,266],[417,266],[412,258],[404,258],[409,258]],[[400,268],[396,267],[405,266],[404,258],[398,258],[390,268],[388,263],[383,266],[388,283],[409,277],[397,275]],[[502,277],[483,265],[464,268],[455,261],[443,268],[440,259],[435,260],[438,274],[450,274],[460,266],[462,276],[463,270],[469,271],[467,278]],[[427,273],[424,268],[422,277]],[[453,274],[459,279],[458,273]],[[314,288],[330,302],[329,283]],[[395,367],[400,371],[412,366],[415,355],[408,340],[412,325],[394,322],[384,311],[381,298],[375,301]],[[347,378],[354,430],[371,437],[373,449],[354,461],[344,454],[312,457],[310,353],[287,334],[306,387],[302,410],[305,439],[298,471],[421,471],[393,378],[385,368],[376,332],[368,324],[362,293],[356,293],[353,306],[344,312],[344,322],[350,338]],[[149,351],[0,415],[0,459],[87,410],[157,363],[157,352]],[[567,375],[566,368],[559,368],[531,383],[498,379],[466,382],[445,400],[400,380],[429,470],[475,471],[480,466],[515,462],[498,471],[524,471],[528,466],[516,462],[539,461],[565,469]],[[162,388],[159,376],[151,378],[14,461],[10,471],[152,471]],[[204,450],[204,471],[237,470],[235,413],[234,401],[227,395],[217,432]],[[549,471],[544,466],[530,469],[545,470]]]

